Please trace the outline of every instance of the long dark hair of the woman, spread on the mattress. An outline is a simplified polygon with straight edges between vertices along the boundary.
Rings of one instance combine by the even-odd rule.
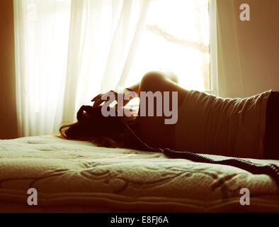
[[[142,147],[129,128],[136,129],[135,118],[120,116],[105,117],[101,106],[81,106],[76,114],[77,122],[61,126],[62,138],[91,141],[97,146],[107,148]]]

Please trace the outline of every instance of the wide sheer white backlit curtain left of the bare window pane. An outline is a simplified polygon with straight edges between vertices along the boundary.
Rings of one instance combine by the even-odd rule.
[[[150,0],[13,0],[18,136],[57,133],[122,89]]]

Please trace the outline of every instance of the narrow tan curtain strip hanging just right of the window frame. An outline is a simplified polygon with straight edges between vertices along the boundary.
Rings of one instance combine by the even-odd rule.
[[[215,0],[216,1],[216,0]],[[243,65],[239,50],[239,5],[234,0],[218,1],[215,5],[217,20],[217,91],[224,97],[247,96],[243,84]],[[237,8],[238,6],[238,8]]]

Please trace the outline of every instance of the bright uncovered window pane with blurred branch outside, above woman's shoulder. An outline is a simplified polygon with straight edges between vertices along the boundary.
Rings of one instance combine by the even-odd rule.
[[[210,90],[208,0],[153,0],[127,85],[169,68],[186,89]]]

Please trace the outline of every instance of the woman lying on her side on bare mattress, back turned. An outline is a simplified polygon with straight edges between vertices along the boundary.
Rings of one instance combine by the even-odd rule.
[[[163,100],[147,99],[147,92],[161,92]],[[169,96],[164,96],[164,92],[169,92],[166,93]],[[137,116],[104,116],[104,96],[108,97],[111,93],[103,94],[103,97],[99,94],[92,99],[93,107],[83,106],[77,114],[76,123],[60,128],[62,137],[91,140],[105,147],[140,149],[141,144],[121,123],[125,122],[153,148],[279,159],[279,92],[263,92],[245,99],[224,99],[205,92],[183,89],[178,86],[176,74],[158,70],[148,72],[141,82],[123,91],[122,95],[131,96],[132,99],[136,94],[141,99],[140,105],[144,106],[139,106]],[[116,92],[113,94],[120,96]],[[147,101],[144,103],[142,99]],[[123,108],[127,102],[124,101]],[[168,102],[174,108],[172,113],[178,116],[175,123],[166,123],[164,111],[161,110],[162,116],[158,114],[160,109],[157,107],[164,109],[162,104]],[[115,108],[119,111],[121,106],[116,105]],[[148,113],[148,109],[152,108],[153,116],[141,114],[142,110]]]

